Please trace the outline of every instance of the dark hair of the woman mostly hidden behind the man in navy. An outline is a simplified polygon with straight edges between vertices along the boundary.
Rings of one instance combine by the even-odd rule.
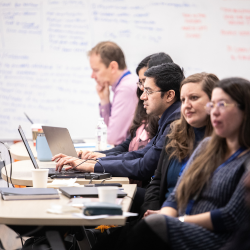
[[[136,68],[136,74],[139,75],[139,71],[144,67],[149,68],[155,65],[172,62],[172,61],[173,61],[172,58],[164,52],[152,54],[144,58],[139,63],[139,65]],[[150,138],[153,138],[156,135],[157,130],[158,130],[159,117],[148,115],[146,113],[146,110],[143,107],[143,101],[140,99],[140,96],[142,95],[142,93],[143,93],[142,90],[137,88],[136,94],[139,100],[138,100],[137,108],[135,110],[133,122],[130,127],[131,138],[135,136],[136,130],[142,124],[145,124],[145,125],[147,124],[145,129],[149,133]]]

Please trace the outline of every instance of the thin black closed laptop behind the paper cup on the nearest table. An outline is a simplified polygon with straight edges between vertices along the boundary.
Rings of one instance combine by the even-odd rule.
[[[68,198],[74,197],[98,197],[96,187],[61,187],[59,190]],[[127,194],[122,190],[117,190],[117,197],[124,198]]]

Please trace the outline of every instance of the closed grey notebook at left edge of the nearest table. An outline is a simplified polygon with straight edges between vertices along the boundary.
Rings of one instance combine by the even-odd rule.
[[[59,199],[59,193],[53,188],[0,188],[2,199],[10,200],[47,200]]]

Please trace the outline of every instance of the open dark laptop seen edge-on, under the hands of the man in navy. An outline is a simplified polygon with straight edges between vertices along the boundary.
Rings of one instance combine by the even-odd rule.
[[[36,161],[32,151],[31,151],[30,145],[29,145],[29,143],[28,143],[28,141],[26,139],[26,136],[25,136],[21,126],[18,127],[18,132],[19,132],[19,134],[20,134],[20,136],[22,138],[22,141],[23,141],[23,143],[24,143],[24,145],[25,145],[25,147],[26,147],[26,149],[28,151],[29,157],[31,159],[31,162],[33,163],[34,168],[39,169],[37,161]],[[78,171],[78,170],[69,170],[69,171],[61,171],[61,172],[59,172],[59,171],[56,171],[55,167],[56,167],[56,165],[55,165],[54,162],[51,162],[51,164],[48,164],[49,177],[52,176],[52,175],[60,175],[60,174],[63,175],[65,173],[67,173],[67,174],[70,174],[70,175],[72,174],[72,178],[74,178],[74,177],[77,177],[77,173],[78,173],[78,175],[79,174],[80,175],[85,174],[85,173],[83,173],[81,171]]]

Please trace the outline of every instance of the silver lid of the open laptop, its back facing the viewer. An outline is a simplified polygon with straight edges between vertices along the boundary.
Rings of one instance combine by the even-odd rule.
[[[68,129],[49,126],[42,128],[53,156],[61,153],[78,157]]]

